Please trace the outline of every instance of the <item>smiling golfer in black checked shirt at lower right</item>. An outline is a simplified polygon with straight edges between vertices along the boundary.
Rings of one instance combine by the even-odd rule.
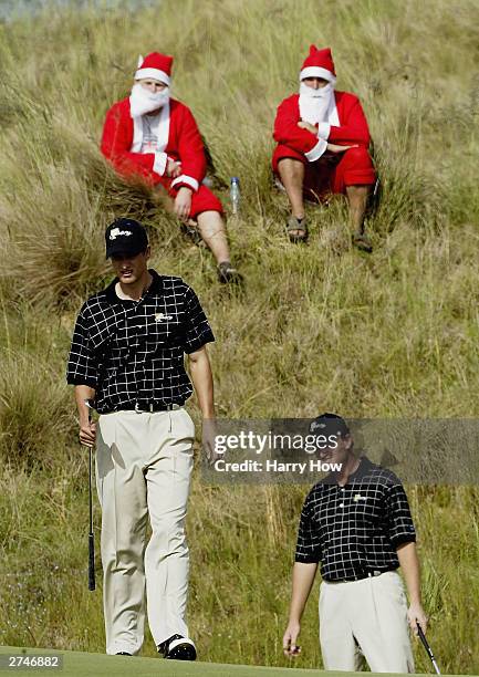
[[[360,670],[364,657],[373,673],[414,673],[408,624],[417,634],[417,622],[426,631],[427,618],[404,488],[393,472],[354,455],[350,430],[339,416],[319,416],[310,433],[329,440],[322,460],[342,468],[315,485],[304,502],[284,654],[300,653],[301,616],[321,562],[324,668]]]

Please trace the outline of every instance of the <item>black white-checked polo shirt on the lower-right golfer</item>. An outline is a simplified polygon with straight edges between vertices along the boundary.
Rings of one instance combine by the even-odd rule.
[[[416,540],[400,480],[361,458],[340,487],[331,476],[315,485],[301,512],[296,562],[321,562],[325,581],[354,581],[399,566],[396,548]]]

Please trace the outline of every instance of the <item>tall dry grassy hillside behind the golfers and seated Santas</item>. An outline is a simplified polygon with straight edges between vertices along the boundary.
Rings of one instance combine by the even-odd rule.
[[[86,591],[86,459],[63,374],[75,313],[110,275],[115,216],[146,222],[155,268],[198,292],[217,335],[220,416],[478,415],[478,22],[473,0],[167,0],[0,24],[0,643],[103,650],[101,595]],[[311,42],[332,46],[337,87],[368,116],[383,186],[371,257],[350,248],[341,199],[311,209],[308,247],[284,235],[271,127]],[[229,232],[242,294],[219,288],[209,252],[98,154],[106,108],[152,50],[175,55],[175,95],[220,181],[241,179]],[[304,492],[208,487],[197,473],[189,616],[205,660],[289,665]],[[410,498],[439,665],[477,673],[479,491],[412,487]],[[321,665],[314,604],[301,667]]]

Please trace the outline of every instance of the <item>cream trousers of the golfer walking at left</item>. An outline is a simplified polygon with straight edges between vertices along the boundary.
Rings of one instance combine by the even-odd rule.
[[[184,408],[100,416],[96,487],[107,654],[139,652],[145,610],[156,645],[188,635],[185,517],[194,438]]]

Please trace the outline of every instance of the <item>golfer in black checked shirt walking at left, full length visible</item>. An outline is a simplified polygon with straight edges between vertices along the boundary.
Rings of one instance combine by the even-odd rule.
[[[206,344],[215,338],[195,292],[180,278],[148,270],[140,223],[118,219],[105,238],[117,278],[80,312],[67,382],[75,386],[80,439],[96,442],[106,653],[139,652],[147,608],[158,652],[191,660],[185,517],[195,428],[184,408],[192,393],[184,356],[204,420],[214,418]]]

